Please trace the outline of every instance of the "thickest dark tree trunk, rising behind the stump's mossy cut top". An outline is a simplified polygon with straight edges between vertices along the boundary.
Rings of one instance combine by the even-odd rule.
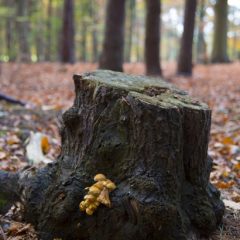
[[[108,0],[99,68],[123,71],[125,0]]]

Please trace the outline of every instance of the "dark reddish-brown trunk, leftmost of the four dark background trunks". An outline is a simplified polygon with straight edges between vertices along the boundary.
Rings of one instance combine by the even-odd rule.
[[[64,1],[61,60],[74,63],[74,0]]]

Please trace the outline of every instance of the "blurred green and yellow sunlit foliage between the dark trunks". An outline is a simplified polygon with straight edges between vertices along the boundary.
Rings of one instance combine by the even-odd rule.
[[[200,0],[194,30],[194,62],[209,62],[213,48],[214,0]],[[75,61],[97,62],[104,38],[105,0],[81,0],[74,3]],[[240,58],[240,3],[228,1],[228,56]],[[61,61],[64,38],[63,0],[1,0],[0,60],[31,62]],[[71,13],[70,13],[71,14]],[[116,14],[117,11],[116,11]],[[142,0],[126,1],[125,62],[144,61],[146,6]],[[178,57],[183,32],[184,1],[162,1],[161,59]],[[204,44],[204,49],[200,47]]]

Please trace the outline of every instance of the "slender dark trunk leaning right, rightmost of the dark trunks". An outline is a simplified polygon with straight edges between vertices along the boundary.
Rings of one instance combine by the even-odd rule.
[[[184,30],[178,58],[178,74],[192,74],[192,45],[197,0],[185,1]]]

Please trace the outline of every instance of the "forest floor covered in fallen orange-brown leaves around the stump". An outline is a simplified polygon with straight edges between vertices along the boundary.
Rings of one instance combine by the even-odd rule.
[[[47,134],[51,144],[47,157],[56,158],[60,151],[58,119],[74,100],[72,75],[93,69],[96,65],[83,63],[1,64],[0,93],[27,104],[22,107],[0,101],[0,169],[16,171],[29,164],[25,149],[31,131]],[[126,64],[124,69],[144,74],[142,64]],[[167,63],[163,64],[163,73],[167,81],[212,109],[211,181],[221,190],[226,213],[223,224],[209,239],[240,239],[240,63],[196,65],[192,77],[176,76],[175,64]],[[14,212],[16,206],[7,216],[0,215],[0,223],[10,219],[11,225],[8,232],[0,227],[0,240],[37,239],[34,229],[20,223]]]

